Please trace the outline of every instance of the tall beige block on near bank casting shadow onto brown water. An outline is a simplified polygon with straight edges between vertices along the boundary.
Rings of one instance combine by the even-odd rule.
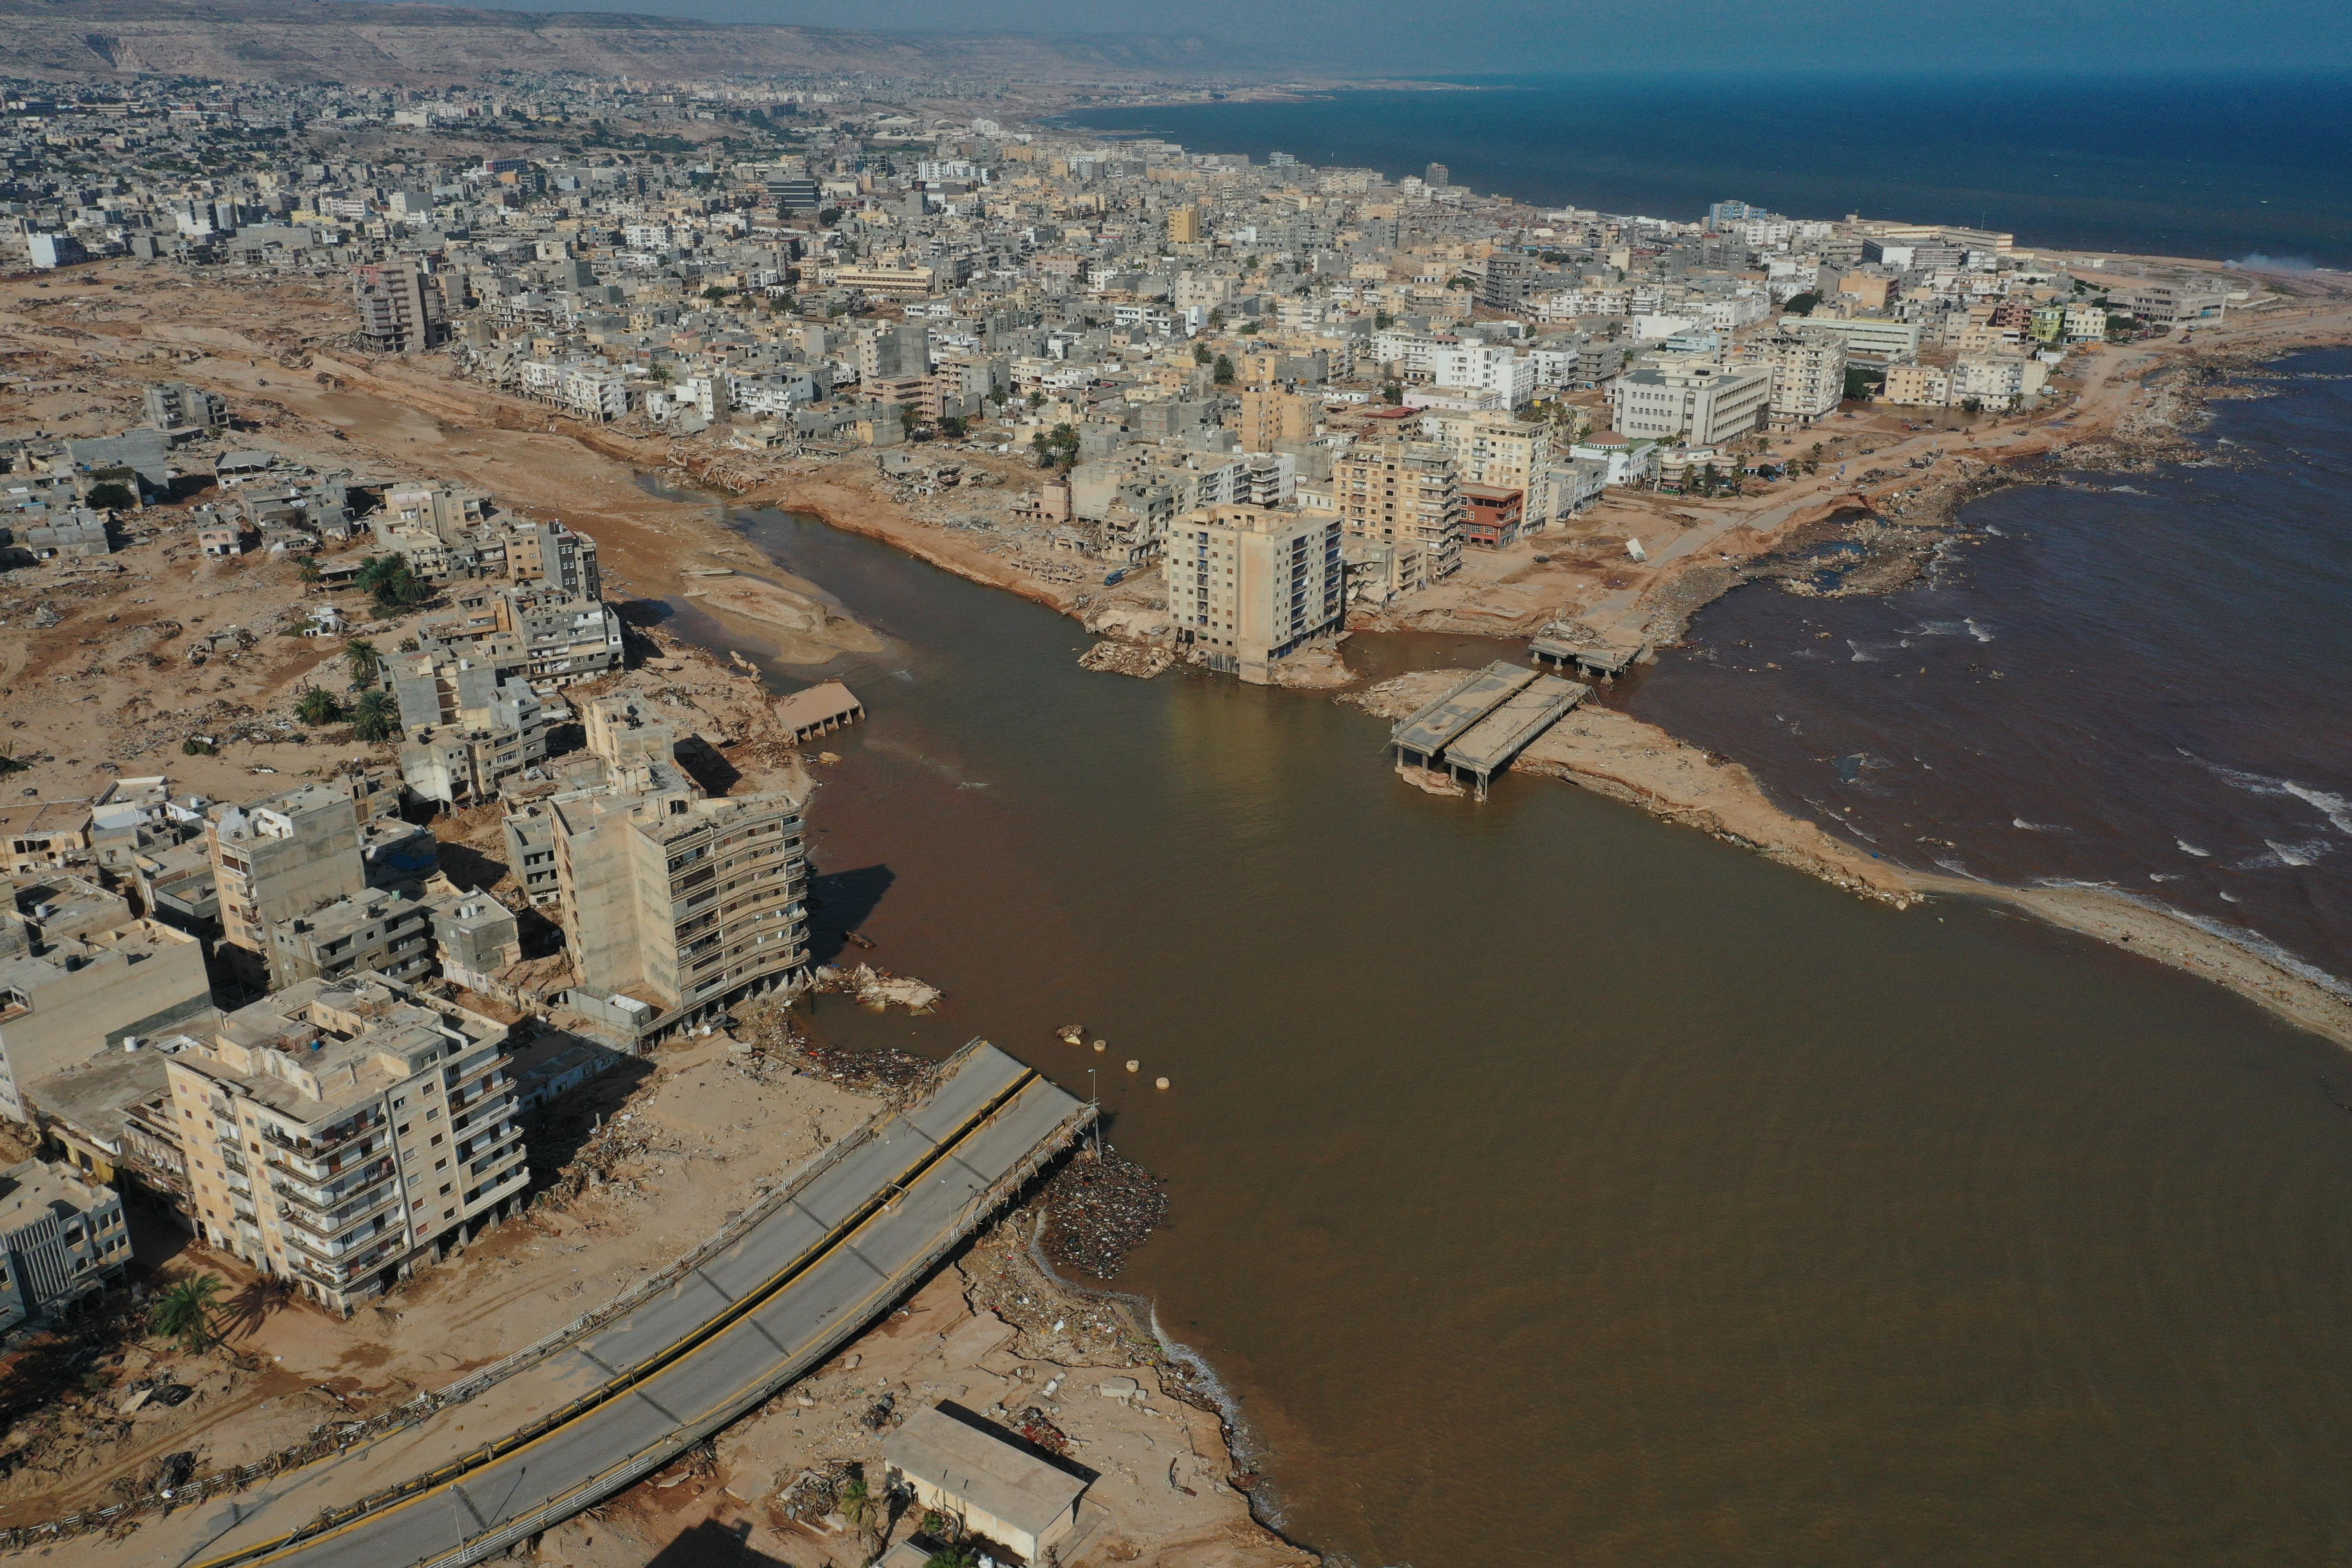
[[[809,961],[800,799],[701,799],[675,766],[633,764],[553,795],[557,910],[590,992],[670,1018],[797,980]]]

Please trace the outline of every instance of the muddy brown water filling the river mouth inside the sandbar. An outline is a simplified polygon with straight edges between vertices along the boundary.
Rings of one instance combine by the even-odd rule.
[[[811,809],[823,952],[856,926],[849,959],[948,990],[934,1018],[826,999],[818,1034],[1101,1070],[1174,1197],[1120,1286],[1216,1368],[1298,1540],[1418,1568],[2352,1554],[2333,1046],[1552,780],[1430,799],[1362,712],[1089,675],[1040,607],[736,522],[889,639],[774,672],[873,715]],[[1110,1048],[1056,1041],[1075,1020]]]

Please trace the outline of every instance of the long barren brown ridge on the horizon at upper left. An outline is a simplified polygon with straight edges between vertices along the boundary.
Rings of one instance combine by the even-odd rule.
[[[0,0],[0,75],[430,85],[485,71],[804,71],[1134,82],[1242,75],[1209,38],[849,33],[350,0]]]

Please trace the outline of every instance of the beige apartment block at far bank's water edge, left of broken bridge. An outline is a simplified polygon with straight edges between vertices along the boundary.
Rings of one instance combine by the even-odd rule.
[[[1218,505],[1176,520],[1167,548],[1176,646],[1265,684],[1348,609],[1341,520],[1331,512]]]

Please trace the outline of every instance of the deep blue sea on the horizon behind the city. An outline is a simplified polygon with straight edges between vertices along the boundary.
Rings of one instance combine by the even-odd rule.
[[[1068,122],[1526,202],[1696,219],[1738,197],[2020,244],[2352,266],[2347,75],[1541,75],[1472,92],[1089,108]]]

